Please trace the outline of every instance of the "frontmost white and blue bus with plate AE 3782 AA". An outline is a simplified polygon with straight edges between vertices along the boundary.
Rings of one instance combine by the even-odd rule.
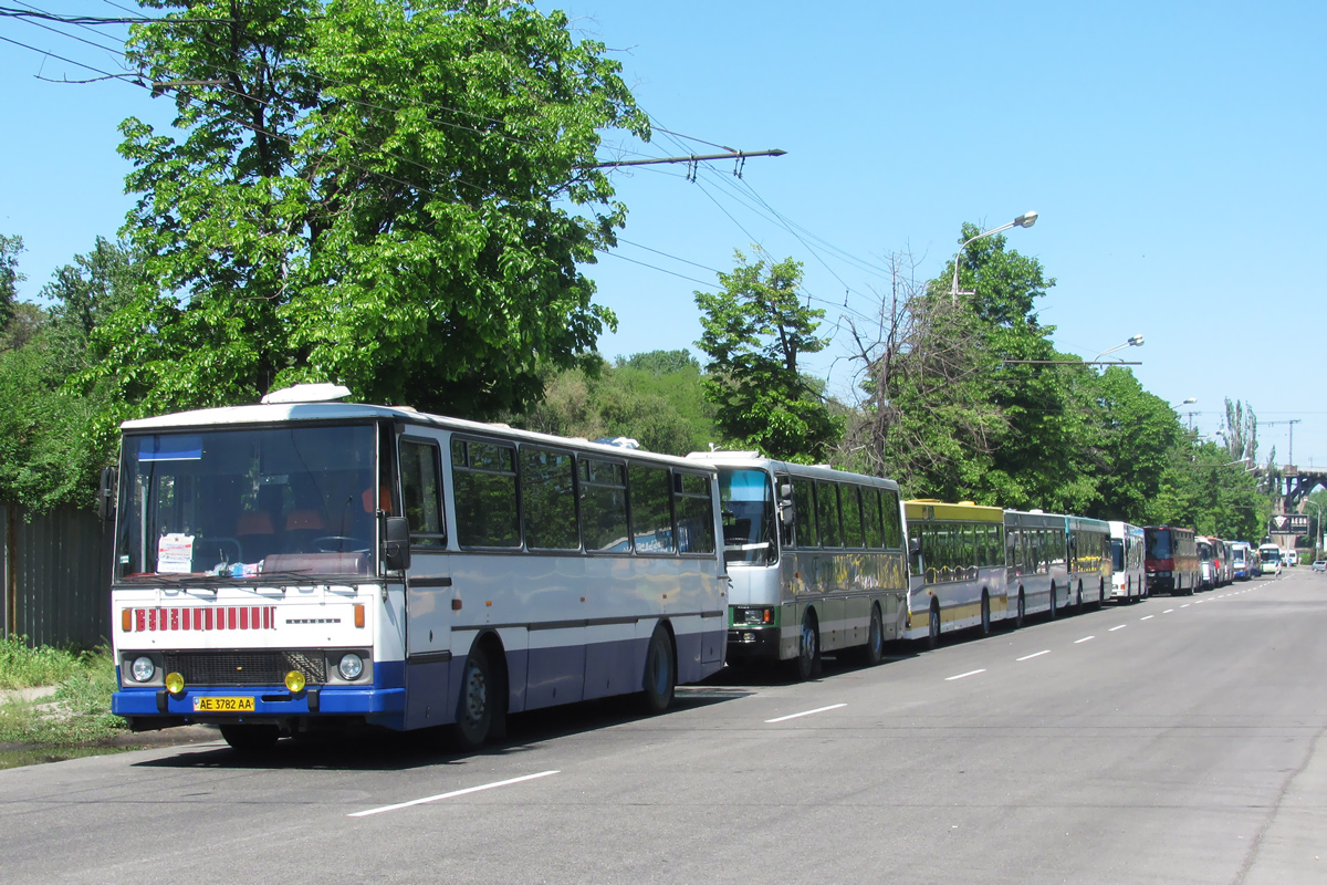
[[[345,395],[122,426],[111,709],[131,728],[260,748],[449,724],[475,747],[522,710],[660,711],[723,666],[713,467]]]

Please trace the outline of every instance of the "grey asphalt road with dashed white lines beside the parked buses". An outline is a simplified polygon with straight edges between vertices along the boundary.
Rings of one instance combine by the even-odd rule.
[[[637,718],[0,771],[5,882],[1324,882],[1327,576]]]

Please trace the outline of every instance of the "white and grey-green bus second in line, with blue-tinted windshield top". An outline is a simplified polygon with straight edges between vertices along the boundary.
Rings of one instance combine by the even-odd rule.
[[[730,663],[790,662],[809,679],[824,651],[878,663],[906,620],[898,486],[759,452],[691,452],[719,471]]]

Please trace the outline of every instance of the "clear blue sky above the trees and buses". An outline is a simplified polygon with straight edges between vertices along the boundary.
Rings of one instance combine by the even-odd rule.
[[[874,314],[890,255],[934,276],[963,222],[1036,210],[1009,245],[1058,280],[1039,313],[1062,350],[1092,358],[1141,333],[1143,348],[1112,356],[1141,361],[1143,385],[1172,403],[1196,397],[1185,421],[1192,410],[1212,433],[1223,399],[1241,399],[1263,422],[1261,458],[1275,446],[1285,462],[1289,426],[1269,422],[1299,419],[1295,460],[1327,467],[1327,4],[539,5],[608,45],[656,126],[788,151],[750,159],[740,179],[727,162],[694,182],[681,166],[616,174],[624,243],[588,268],[620,320],[605,356],[695,353],[693,292],[756,243],[805,264],[835,336],[811,369],[847,395],[845,317],[861,326]],[[114,69],[107,53],[13,19],[0,19],[0,37]],[[0,42],[0,234],[27,243],[28,297],[119,227],[131,198],[115,126],[166,110],[125,84],[36,74],[89,76]],[[662,133],[622,147],[714,150]]]

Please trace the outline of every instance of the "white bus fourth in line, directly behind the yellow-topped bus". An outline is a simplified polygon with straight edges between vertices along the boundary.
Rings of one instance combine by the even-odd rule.
[[[1014,624],[1047,612],[1054,618],[1068,604],[1064,516],[1040,511],[1005,511],[1006,586]]]

